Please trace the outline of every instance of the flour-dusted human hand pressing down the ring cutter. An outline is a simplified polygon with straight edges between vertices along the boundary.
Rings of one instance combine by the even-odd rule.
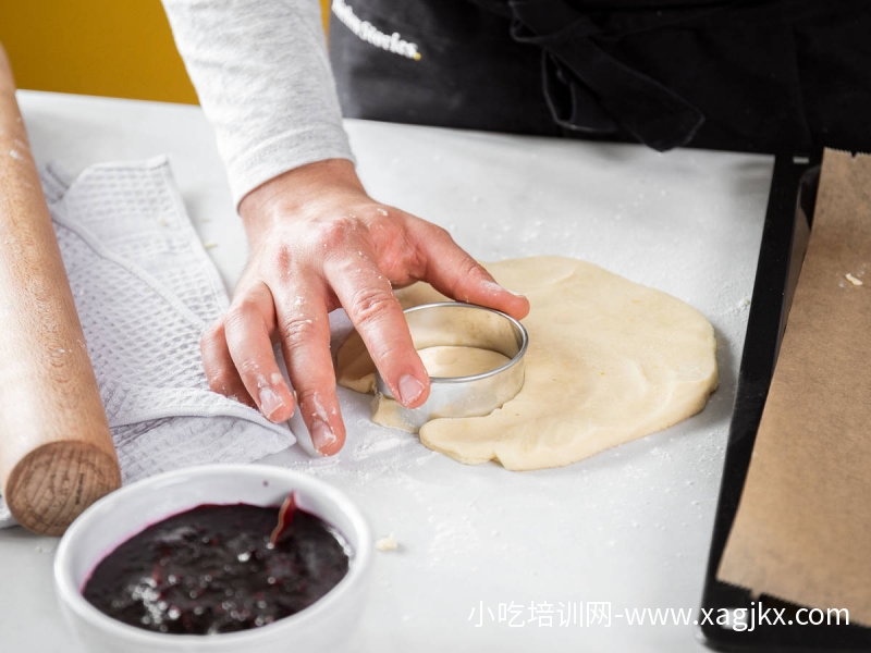
[[[450,234],[381,205],[344,159],[310,163],[249,193],[240,205],[248,264],[230,310],[203,336],[209,386],[257,407],[272,421],[290,419],[294,397],[281,375],[282,354],[315,448],[342,448],[345,426],[335,394],[328,313],[345,309],[393,396],[408,408],[429,395],[393,288],[426,281],[449,297],[529,312],[526,298],[496,284]]]

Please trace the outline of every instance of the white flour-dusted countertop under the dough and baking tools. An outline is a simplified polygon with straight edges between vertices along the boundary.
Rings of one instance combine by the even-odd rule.
[[[209,254],[232,287],[245,262],[244,232],[198,108],[19,98],[39,161],[77,172],[169,152],[194,225],[218,244]],[[696,617],[772,159],[346,126],[377,199],[450,229],[481,260],[571,256],[684,299],[713,323],[721,369],[720,389],[698,416],[571,467],[522,473],[466,467],[376,427],[368,398],[342,391],[348,439],[339,456],[310,460],[295,447],[270,461],[342,488],[379,537],[393,532],[400,543],[377,556],[347,651],[703,650],[691,623],[629,625],[626,613],[672,607]],[[83,651],[54,604],[56,546],[20,528],[0,531],[0,653]],[[560,625],[560,604],[581,602],[585,613],[588,603],[610,602],[610,627]],[[540,604],[550,604],[551,626]],[[500,621],[500,612],[524,625]]]

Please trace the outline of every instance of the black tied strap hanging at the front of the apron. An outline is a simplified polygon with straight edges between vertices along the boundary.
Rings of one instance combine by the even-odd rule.
[[[622,128],[664,151],[686,145],[704,122],[695,106],[599,48],[590,37],[601,28],[563,0],[508,7],[512,37],[542,49],[544,97],[559,125],[600,134]]]

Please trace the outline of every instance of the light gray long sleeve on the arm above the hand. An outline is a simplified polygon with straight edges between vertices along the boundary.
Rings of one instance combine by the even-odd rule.
[[[353,159],[317,0],[163,0],[214,127],[233,200],[279,174]]]

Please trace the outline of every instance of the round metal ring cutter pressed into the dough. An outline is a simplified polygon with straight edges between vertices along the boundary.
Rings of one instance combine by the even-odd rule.
[[[440,301],[405,309],[405,320],[415,349],[466,346],[498,352],[508,361],[493,370],[468,377],[430,377],[429,397],[418,408],[398,406],[398,416],[420,428],[440,417],[482,417],[513,399],[524,386],[524,355],[529,335],[517,320],[498,310]],[[379,393],[394,398],[381,374],[376,373]]]

